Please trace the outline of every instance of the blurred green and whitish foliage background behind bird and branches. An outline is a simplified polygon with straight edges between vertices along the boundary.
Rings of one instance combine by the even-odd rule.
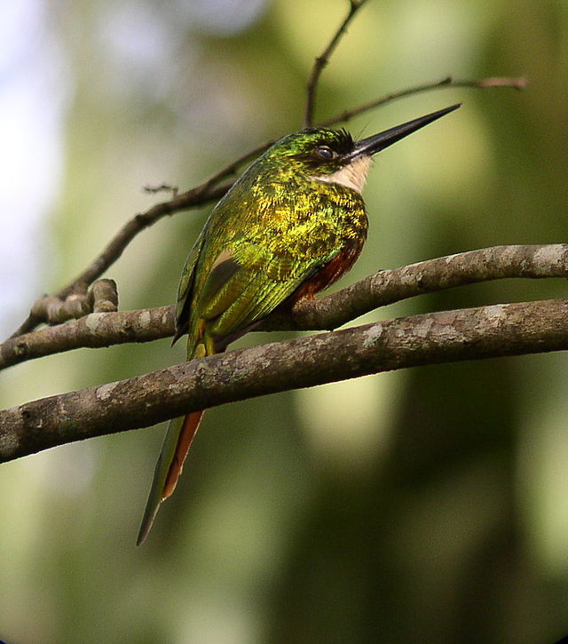
[[[141,187],[192,187],[298,129],[312,60],[347,8],[9,5],[0,10],[4,49],[11,38],[20,49],[4,57],[0,108],[12,97],[5,129],[17,131],[10,118],[25,127],[12,134],[4,176],[24,187],[0,212],[4,336],[36,293],[67,282],[160,198]],[[369,241],[338,287],[441,254],[568,238],[568,4],[370,0],[324,72],[317,115],[448,74],[525,75],[531,85],[430,92],[349,123],[369,135],[464,103],[377,159]],[[13,100],[25,83],[36,83],[28,111]],[[28,224],[21,209],[36,190]],[[130,244],[107,275],[122,309],[174,301],[206,216],[164,219]],[[365,319],[565,289],[560,280],[469,286]],[[288,335],[254,333],[238,346],[279,337]],[[0,404],[181,362],[182,345],[29,362],[0,374]],[[138,549],[163,426],[2,465],[0,638],[553,642],[568,632],[566,373],[564,354],[467,362],[213,409],[177,494]]]

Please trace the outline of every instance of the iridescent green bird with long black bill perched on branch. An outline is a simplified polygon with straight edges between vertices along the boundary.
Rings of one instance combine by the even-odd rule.
[[[280,139],[217,203],[179,282],[174,342],[187,359],[225,351],[277,306],[313,298],[348,271],[367,239],[361,191],[375,153],[458,105],[354,141],[309,128]],[[174,491],[203,411],[170,422],[138,533]]]

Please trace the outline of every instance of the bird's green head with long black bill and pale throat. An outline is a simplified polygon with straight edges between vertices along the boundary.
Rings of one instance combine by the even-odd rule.
[[[277,141],[263,155],[263,160],[311,179],[340,184],[360,192],[373,155],[457,107],[460,105],[446,107],[359,141],[354,141],[345,130],[308,128]]]

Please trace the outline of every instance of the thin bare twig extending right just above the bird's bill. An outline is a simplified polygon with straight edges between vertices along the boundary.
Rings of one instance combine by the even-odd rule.
[[[386,94],[378,99],[371,100],[364,105],[359,107],[354,107],[353,109],[348,109],[342,112],[341,114],[332,116],[323,123],[319,123],[322,127],[328,127],[330,125],[335,125],[335,123],[343,123],[349,121],[353,116],[363,114],[368,112],[375,107],[380,107],[390,103],[393,100],[403,99],[406,96],[412,96],[413,94],[422,93],[422,91],[431,91],[431,90],[442,90],[446,87],[477,87],[478,89],[486,90],[492,87],[511,87],[515,90],[522,90],[526,87],[528,81],[525,77],[521,76],[520,78],[482,78],[480,80],[454,80],[452,76],[446,76],[438,81],[432,81],[430,83],[422,83],[420,85],[414,85],[412,87],[407,87],[404,90],[393,91],[390,94]]]

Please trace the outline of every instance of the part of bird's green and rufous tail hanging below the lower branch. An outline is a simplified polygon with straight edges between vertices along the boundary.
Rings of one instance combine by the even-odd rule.
[[[162,501],[170,497],[176,489],[177,479],[184,467],[185,457],[191,447],[193,436],[197,433],[202,416],[203,411],[193,411],[185,417],[174,418],[170,421],[154,470],[154,480],[146,501],[146,509],[138,531],[136,545],[141,545],[146,541]]]

